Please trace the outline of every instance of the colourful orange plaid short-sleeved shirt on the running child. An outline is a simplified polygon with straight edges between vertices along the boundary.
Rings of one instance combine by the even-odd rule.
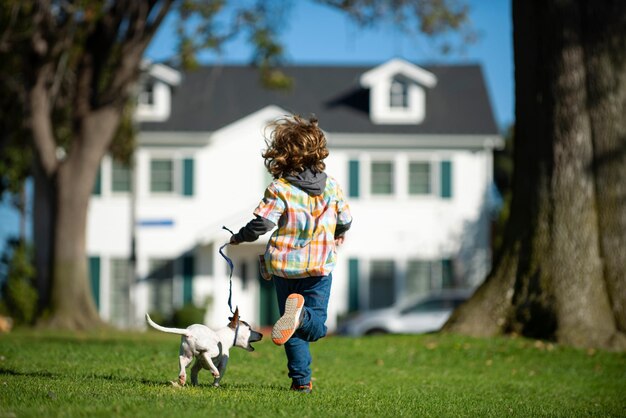
[[[254,214],[278,225],[260,257],[265,279],[327,276],[337,259],[335,227],[352,222],[348,203],[332,177],[319,196],[283,178],[274,180]]]

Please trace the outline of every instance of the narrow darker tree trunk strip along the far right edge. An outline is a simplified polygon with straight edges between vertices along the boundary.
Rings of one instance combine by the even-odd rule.
[[[600,252],[617,327],[626,332],[626,16],[621,4],[604,6],[586,10],[587,72],[595,75],[587,79],[589,115]]]

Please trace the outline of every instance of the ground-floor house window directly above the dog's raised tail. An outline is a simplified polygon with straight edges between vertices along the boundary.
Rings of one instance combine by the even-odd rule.
[[[165,258],[153,258],[148,266],[149,310],[169,315],[174,309],[174,262]]]

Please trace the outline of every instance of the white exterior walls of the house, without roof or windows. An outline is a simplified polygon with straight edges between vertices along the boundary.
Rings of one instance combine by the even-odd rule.
[[[206,322],[221,326],[227,320],[228,271],[217,250],[229,239],[222,225],[235,232],[252,217],[252,211],[262,198],[268,182],[263,160],[265,148],[263,128],[269,120],[285,114],[276,107],[268,107],[218,132],[207,133],[199,144],[189,144],[183,134],[172,134],[170,145],[142,145],[136,154],[138,221],[167,220],[171,225],[138,226],[137,273],[141,279],[148,274],[151,258],[176,259],[188,251],[195,254],[193,301],[205,303],[212,298]],[[163,133],[159,134],[163,137]],[[329,133],[329,137],[333,134]],[[339,136],[339,135],[338,135]],[[198,134],[195,134],[198,137]],[[150,141],[142,134],[140,143]],[[153,141],[155,143],[156,141]],[[331,142],[332,143],[332,142]],[[181,173],[182,160],[194,159],[194,194],[155,195],[150,193],[149,170],[151,157],[168,157],[175,161],[176,172]],[[348,197],[350,160],[360,162],[360,195]],[[372,196],[369,193],[369,163],[375,159],[394,162],[396,194]],[[433,165],[433,194],[412,196],[407,192],[408,162],[430,161]],[[452,162],[452,198],[439,197],[439,163]],[[339,250],[339,264],[335,272],[328,326],[332,330],[336,317],[347,310],[348,259],[360,260],[360,288],[363,302],[367,301],[368,262],[375,259],[394,260],[396,268],[396,298],[402,297],[406,265],[412,259],[455,259],[470,285],[476,285],[485,276],[489,264],[489,224],[485,214],[485,196],[491,182],[491,149],[394,149],[379,147],[363,149],[331,148],[327,159],[327,173],[337,179],[348,198],[354,216],[345,246]],[[175,181],[180,184],[181,179]],[[131,235],[131,204],[128,194],[110,192],[110,159],[102,165],[102,195],[90,204],[88,218],[88,254],[101,257],[101,314],[110,318],[109,260],[128,257]],[[269,235],[269,234],[268,234]],[[259,243],[230,247],[235,261],[233,303],[238,305],[243,318],[255,324],[259,315],[259,286],[255,266],[258,254],[264,250],[267,237]],[[238,278],[237,266],[248,263],[248,286],[244,290]],[[179,265],[180,263],[178,263]],[[180,266],[179,266],[180,267]],[[182,278],[177,269],[174,281],[174,303],[182,303]],[[148,285],[140,281],[132,293],[135,323],[143,326],[148,309]],[[365,305],[366,306],[366,305]]]

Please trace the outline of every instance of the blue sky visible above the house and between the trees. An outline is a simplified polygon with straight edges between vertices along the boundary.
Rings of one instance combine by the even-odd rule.
[[[496,123],[504,130],[513,122],[513,41],[510,0],[467,0],[470,20],[479,38],[462,53],[442,55],[423,37],[402,34],[391,24],[363,29],[346,15],[311,1],[293,0],[282,19],[281,40],[288,64],[378,65],[403,58],[417,65],[478,63],[483,68]],[[174,19],[163,22],[146,56],[164,61],[175,51]],[[207,63],[245,64],[251,48],[245,39],[227,44],[222,55],[207,54]],[[18,233],[19,218],[0,202],[0,251],[7,237]]]

